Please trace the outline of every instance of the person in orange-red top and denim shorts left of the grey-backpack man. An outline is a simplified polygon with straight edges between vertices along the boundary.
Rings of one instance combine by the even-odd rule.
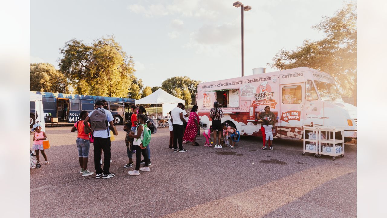
[[[79,120],[75,122],[74,126],[71,128],[71,132],[75,132],[78,130],[76,143],[78,148],[78,157],[80,165],[79,173],[82,174],[82,176],[93,175],[93,172],[87,170],[87,159],[89,157],[90,150],[90,137],[89,134],[86,134],[84,130],[84,120],[87,118],[87,115],[89,115],[89,112],[81,111],[79,113]]]

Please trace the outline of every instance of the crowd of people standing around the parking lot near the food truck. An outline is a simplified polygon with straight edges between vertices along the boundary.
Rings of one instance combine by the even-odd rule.
[[[178,103],[172,111],[169,112],[170,118],[168,119],[170,140],[169,148],[174,152],[186,152],[187,149],[183,148],[183,144],[192,142],[193,146],[199,146],[196,142],[196,137],[200,135],[200,118],[197,114],[198,106],[194,105],[188,114],[185,111],[185,105]],[[156,128],[154,121],[146,116],[146,109],[144,106],[137,107],[131,106],[129,121],[125,123],[123,130],[126,132],[125,144],[127,147],[128,163],[124,168],[131,168],[135,166],[133,171],[128,171],[129,175],[140,175],[140,171],[150,171],[151,165],[151,130],[149,128]],[[228,126],[227,123],[221,123],[223,118],[223,111],[219,107],[218,102],[214,102],[214,107],[210,111],[210,118],[212,119],[212,125],[209,129],[204,130],[203,136],[205,137],[204,146],[220,149],[223,145],[227,145],[231,148],[235,148],[236,142],[236,129],[232,126]],[[263,146],[261,149],[267,149],[266,142],[269,144],[269,149],[273,150],[273,126],[277,121],[276,116],[270,111],[270,107],[265,107],[265,112],[259,114],[259,118],[262,119],[261,131]],[[36,153],[36,159],[38,163],[39,151],[45,158],[45,164],[48,164],[47,156],[43,148],[43,140],[47,139],[46,133],[41,131],[41,125],[36,124],[33,126],[31,132],[34,131],[34,144],[33,149]],[[94,143],[94,167],[96,178],[111,178],[115,174],[110,172],[111,163],[111,134],[118,135],[114,125],[113,116],[108,109],[107,102],[97,101],[96,109],[90,113],[82,111],[79,114],[79,120],[74,123],[71,132],[77,131],[77,149],[79,157],[80,171],[82,176],[93,175],[87,169],[87,160],[89,157],[90,144]],[[213,140],[211,139],[211,133],[213,133]],[[104,156],[104,164],[102,161],[102,153]],[[133,162],[133,154],[136,156],[136,163]],[[141,160],[141,155],[143,159]],[[143,167],[140,167],[144,164]],[[103,165],[103,168],[101,168]]]

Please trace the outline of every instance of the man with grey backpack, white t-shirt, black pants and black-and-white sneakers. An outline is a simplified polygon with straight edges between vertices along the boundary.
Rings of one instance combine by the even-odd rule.
[[[90,126],[94,129],[94,167],[96,168],[96,178],[102,177],[103,179],[107,179],[115,176],[114,173],[110,173],[109,171],[111,157],[110,127],[113,128],[113,115],[110,111],[103,108],[102,101],[97,101],[96,106],[97,109],[90,112],[89,116],[84,120],[84,123],[90,123]],[[85,124],[86,132],[92,132],[90,126]],[[101,159],[101,148],[105,160],[103,170],[98,161]]]

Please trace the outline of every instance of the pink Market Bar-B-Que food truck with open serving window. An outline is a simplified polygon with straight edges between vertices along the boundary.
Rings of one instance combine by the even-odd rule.
[[[219,102],[227,122],[241,135],[262,136],[259,113],[266,106],[278,117],[277,138],[302,139],[303,126],[344,129],[346,141],[356,138],[356,107],[345,103],[328,73],[298,67],[227,80],[200,83],[196,103],[204,129],[209,112]]]

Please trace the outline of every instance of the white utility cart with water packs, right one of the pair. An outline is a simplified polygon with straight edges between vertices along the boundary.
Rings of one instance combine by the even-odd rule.
[[[341,139],[336,138],[336,133],[341,132]],[[321,135],[325,135],[325,139],[321,138]],[[332,135],[332,137],[331,137]],[[335,127],[319,126],[319,155],[332,156],[332,161],[336,159],[336,156],[344,157],[344,129]],[[325,144],[325,145],[324,145]],[[341,144],[341,145],[337,145]]]

